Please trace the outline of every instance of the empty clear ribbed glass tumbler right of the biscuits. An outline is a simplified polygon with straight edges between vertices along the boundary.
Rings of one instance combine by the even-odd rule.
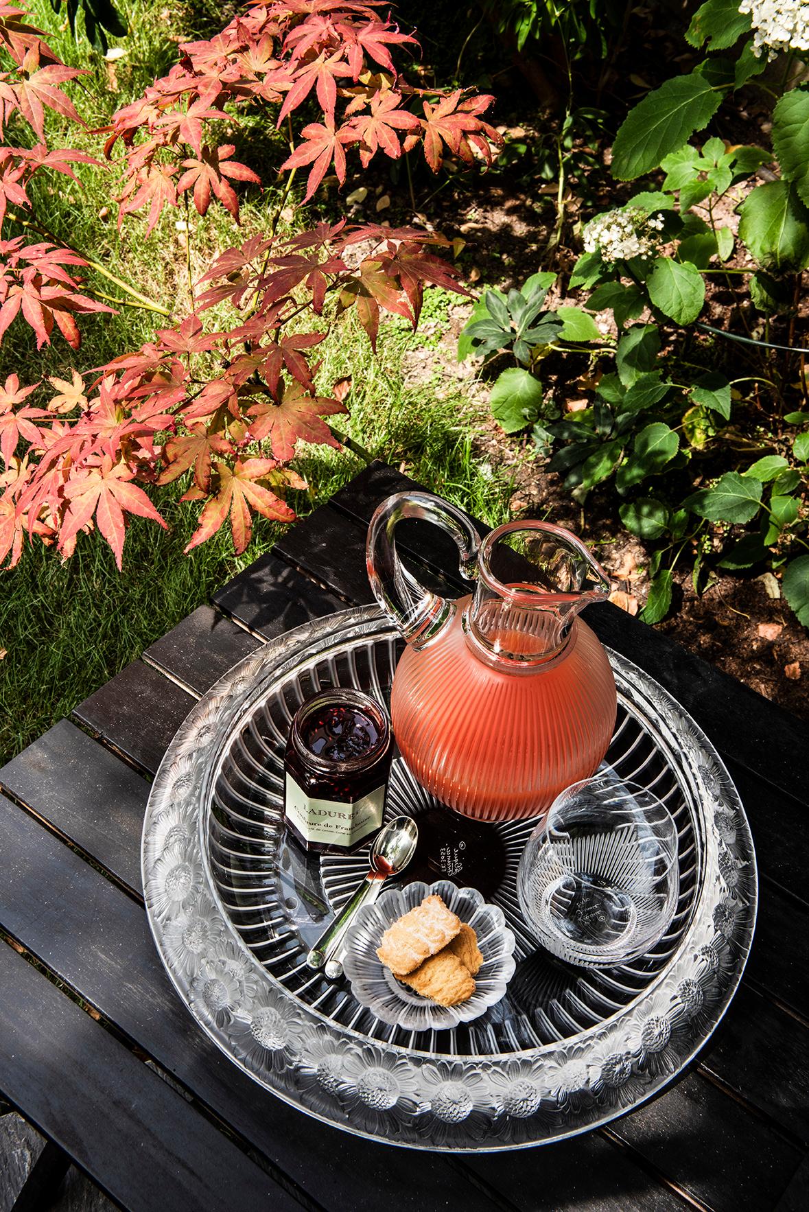
[[[612,773],[574,783],[528,839],[517,890],[532,932],[560,959],[583,967],[637,959],[677,907],[675,821],[652,791]]]

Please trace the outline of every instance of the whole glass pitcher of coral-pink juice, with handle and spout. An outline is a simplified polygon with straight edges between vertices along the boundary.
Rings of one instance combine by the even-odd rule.
[[[425,519],[449,533],[475,581],[455,601],[419,584],[395,528]],[[607,653],[579,612],[609,594],[583,543],[550,522],[506,522],[482,542],[469,519],[428,492],[397,492],[368,528],[377,601],[407,647],[391,692],[394,733],[414,777],[478,821],[547,808],[589,778],[615,726]]]

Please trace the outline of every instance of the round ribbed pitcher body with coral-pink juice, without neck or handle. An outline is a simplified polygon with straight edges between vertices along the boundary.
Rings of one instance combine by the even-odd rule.
[[[419,783],[478,821],[549,807],[589,778],[615,726],[607,653],[580,618],[543,664],[482,659],[464,634],[469,598],[426,647],[404,650],[391,696],[394,734]]]

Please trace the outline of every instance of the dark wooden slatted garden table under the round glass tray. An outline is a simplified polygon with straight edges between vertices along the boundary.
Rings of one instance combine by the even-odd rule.
[[[414,1154],[266,1093],[170,985],[140,887],[149,778],[195,698],[236,661],[372,600],[368,519],[408,486],[372,464],[0,771],[0,1094],[121,1206],[148,1212],[805,1208],[809,728],[609,605],[590,607],[587,622],[718,748],[761,873],[741,988],[661,1097],[541,1150]],[[402,537],[453,584],[454,545],[435,527]],[[46,1161],[58,1168],[61,1157],[51,1149]]]

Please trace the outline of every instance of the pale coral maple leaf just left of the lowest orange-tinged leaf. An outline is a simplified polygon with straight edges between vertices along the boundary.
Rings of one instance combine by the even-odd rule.
[[[125,463],[113,464],[109,458],[104,458],[99,467],[69,480],[64,494],[70,504],[59,530],[59,550],[65,549],[94,514],[96,525],[111,547],[120,571],[126,533],[125,513],[150,518],[165,530],[166,522],[143,488],[138,488],[131,480],[130,468]]]

